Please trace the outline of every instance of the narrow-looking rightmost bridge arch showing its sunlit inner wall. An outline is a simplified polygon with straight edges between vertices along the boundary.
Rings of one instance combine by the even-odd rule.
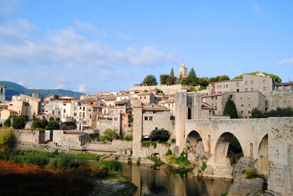
[[[268,175],[269,173],[269,138],[266,134],[259,143],[258,149],[258,170]]]

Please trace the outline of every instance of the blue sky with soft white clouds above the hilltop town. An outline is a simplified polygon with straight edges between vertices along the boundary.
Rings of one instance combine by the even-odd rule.
[[[3,1],[1,79],[94,94],[148,74],[293,80],[293,1]]]

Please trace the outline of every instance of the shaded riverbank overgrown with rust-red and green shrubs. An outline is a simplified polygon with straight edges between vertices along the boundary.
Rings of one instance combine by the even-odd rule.
[[[8,149],[0,154],[1,194],[133,195],[137,187],[121,173],[122,163],[102,156]]]

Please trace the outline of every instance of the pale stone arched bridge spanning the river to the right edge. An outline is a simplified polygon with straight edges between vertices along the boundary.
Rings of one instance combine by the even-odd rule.
[[[257,160],[257,169],[268,175],[269,188],[279,193],[293,192],[293,118],[185,120],[185,129],[176,135],[176,145],[182,151],[186,145],[202,140],[209,155],[207,165],[213,168],[209,176],[232,178],[228,146],[235,136],[244,157]],[[188,143],[186,142],[188,141]],[[278,176],[278,178],[277,178]],[[279,182],[274,181],[280,179]],[[276,187],[272,187],[276,186]],[[284,188],[285,187],[285,188]]]

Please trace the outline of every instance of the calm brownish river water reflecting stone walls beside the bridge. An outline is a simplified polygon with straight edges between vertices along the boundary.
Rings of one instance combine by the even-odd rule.
[[[181,169],[180,169],[181,170]],[[123,172],[138,187],[140,195],[216,195],[228,190],[232,181],[225,178],[194,177],[192,171],[180,171],[165,164],[124,164]]]

